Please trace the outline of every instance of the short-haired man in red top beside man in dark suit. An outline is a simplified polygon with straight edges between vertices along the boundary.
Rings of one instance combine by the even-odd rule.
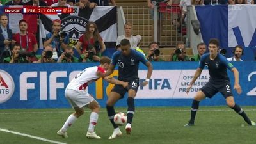
[[[13,35],[13,40],[21,46],[21,51],[36,52],[38,45],[33,33],[28,32],[28,22],[24,19],[19,21],[20,33]]]

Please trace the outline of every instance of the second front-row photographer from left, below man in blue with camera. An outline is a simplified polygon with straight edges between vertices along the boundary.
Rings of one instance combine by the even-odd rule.
[[[42,55],[38,56],[38,61],[35,61],[35,63],[54,63],[55,61],[53,60],[52,56],[53,56],[52,45],[46,45],[44,47],[44,51],[42,52]]]

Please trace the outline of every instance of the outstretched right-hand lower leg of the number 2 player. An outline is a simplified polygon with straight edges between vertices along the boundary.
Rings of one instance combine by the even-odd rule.
[[[252,122],[250,120],[250,118],[248,118],[248,116],[246,115],[246,113],[243,111],[243,109],[238,105],[236,104],[235,100],[234,100],[234,97],[233,96],[229,96],[226,98],[226,102],[227,102],[227,105],[234,109],[234,111],[236,111],[236,113],[238,113],[239,115],[241,115],[243,118],[244,118],[244,121],[249,124],[249,125],[255,125],[255,122]]]

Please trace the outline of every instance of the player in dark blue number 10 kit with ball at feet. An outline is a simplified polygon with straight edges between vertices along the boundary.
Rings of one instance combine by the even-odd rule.
[[[140,61],[148,67],[146,80],[143,81],[143,86],[147,85],[149,79],[151,77],[153,67],[152,64],[141,54],[140,52],[131,49],[131,44],[129,40],[123,39],[120,42],[121,51],[116,51],[111,60],[111,64],[109,65],[109,69],[106,71],[104,76],[109,76],[113,73],[115,69],[115,65],[118,65],[118,80],[129,82],[127,88],[124,88],[119,85],[115,85],[115,87],[111,90],[111,93],[106,102],[106,108],[108,111],[109,120],[114,127],[113,134],[109,137],[109,139],[116,138],[122,135],[122,132],[118,128],[118,125],[114,122],[115,109],[114,105],[119,100],[122,99],[125,93],[128,93],[127,97],[127,125],[125,127],[126,133],[131,134],[131,124],[132,118],[134,115],[134,97],[136,96],[136,92],[139,87],[139,77],[138,77],[138,68]],[[103,76],[103,77],[104,77]]]

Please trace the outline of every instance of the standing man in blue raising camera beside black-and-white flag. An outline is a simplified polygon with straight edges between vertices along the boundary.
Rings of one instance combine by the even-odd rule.
[[[53,58],[56,59],[67,48],[69,35],[61,31],[61,20],[52,21],[52,33],[48,33],[45,38],[44,47],[51,44],[54,52]],[[58,56],[57,56],[58,55]]]

